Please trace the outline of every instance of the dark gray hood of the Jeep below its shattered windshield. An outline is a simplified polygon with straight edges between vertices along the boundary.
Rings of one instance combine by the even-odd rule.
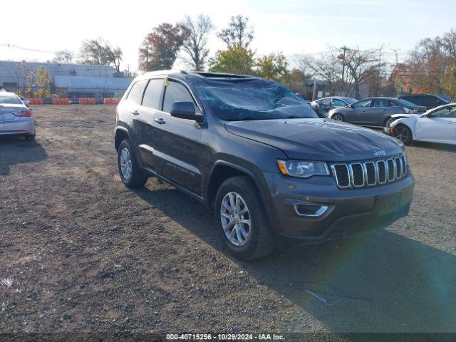
[[[296,160],[367,160],[375,158],[376,151],[387,156],[403,151],[401,142],[382,133],[320,118],[231,121],[225,128]]]

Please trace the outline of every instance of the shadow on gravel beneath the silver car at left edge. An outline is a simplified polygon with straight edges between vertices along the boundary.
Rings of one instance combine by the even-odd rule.
[[[11,165],[38,162],[47,157],[46,150],[36,141],[19,136],[0,137],[0,175],[8,175]]]

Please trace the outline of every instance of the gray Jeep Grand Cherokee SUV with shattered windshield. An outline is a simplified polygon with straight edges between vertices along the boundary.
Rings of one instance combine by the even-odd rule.
[[[318,118],[279,83],[156,71],[116,111],[120,178],[155,176],[214,211],[228,251],[281,249],[386,227],[408,214],[414,180],[401,142]]]

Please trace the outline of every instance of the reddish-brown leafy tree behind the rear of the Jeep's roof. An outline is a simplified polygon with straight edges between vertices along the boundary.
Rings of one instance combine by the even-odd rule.
[[[140,46],[140,70],[172,68],[186,37],[187,31],[180,25],[163,23],[153,28]]]

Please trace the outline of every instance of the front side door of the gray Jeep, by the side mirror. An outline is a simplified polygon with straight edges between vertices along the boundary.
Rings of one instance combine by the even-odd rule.
[[[201,160],[206,150],[201,142],[202,127],[193,120],[170,115],[172,103],[191,101],[200,111],[185,83],[167,81],[162,111],[155,114],[152,140],[155,170],[163,177],[202,195]]]

